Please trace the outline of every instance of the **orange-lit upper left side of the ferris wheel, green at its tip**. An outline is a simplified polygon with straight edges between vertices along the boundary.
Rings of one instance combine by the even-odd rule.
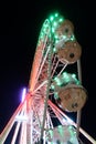
[[[41,32],[40,32],[40,37],[39,37],[39,42],[38,42],[38,45],[36,45],[36,51],[35,51],[35,54],[34,54],[34,59],[33,59],[33,64],[32,64],[32,70],[31,70],[31,75],[30,75],[30,82],[29,82],[29,86],[30,86],[30,91],[33,92],[33,90],[35,89],[35,84],[36,84],[36,78],[39,78],[40,75],[40,68],[41,68],[41,63],[43,62],[44,60],[44,54],[45,54],[45,51],[46,51],[46,44],[47,44],[47,41],[49,41],[49,35],[50,35],[50,27],[47,28],[47,31],[45,32],[43,29],[43,27],[45,25],[49,25],[49,21],[45,20],[43,25],[42,25],[42,29],[41,29]],[[44,63],[44,62],[43,62]],[[43,66],[43,64],[42,64]],[[41,68],[42,70],[42,68]]]

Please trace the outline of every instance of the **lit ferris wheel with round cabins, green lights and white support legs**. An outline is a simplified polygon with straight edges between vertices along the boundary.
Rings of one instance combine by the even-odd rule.
[[[81,111],[87,100],[82,84],[82,47],[73,23],[53,13],[42,24],[32,63],[29,89],[6,128],[4,144],[14,125],[11,144],[82,144]],[[75,113],[75,122],[70,114]]]

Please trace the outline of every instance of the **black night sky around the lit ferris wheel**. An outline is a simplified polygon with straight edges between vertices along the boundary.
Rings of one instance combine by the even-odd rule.
[[[92,1],[1,1],[0,2],[0,132],[20,103],[23,86],[29,85],[31,65],[43,21],[58,11],[75,27],[83,48],[83,85],[88,101],[82,111],[82,127],[96,138],[96,54],[95,9]]]

